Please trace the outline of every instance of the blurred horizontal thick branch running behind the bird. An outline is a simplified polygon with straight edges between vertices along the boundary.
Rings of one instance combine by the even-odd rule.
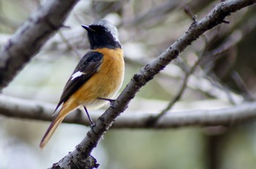
[[[12,98],[10,96],[0,95],[0,114],[7,117],[22,119],[37,119],[51,122],[52,112],[55,105],[37,101],[26,101],[23,99]],[[101,111],[91,113],[94,121],[100,116]],[[148,128],[146,122],[149,117],[155,117],[157,114],[146,112],[129,112],[118,117],[113,123],[112,128]],[[236,125],[256,119],[256,102],[244,103],[240,106],[219,110],[193,110],[180,111],[165,114],[151,128],[171,128],[186,126],[212,126],[212,125]],[[88,118],[84,113],[77,111],[64,119],[64,122],[80,125],[90,125]]]

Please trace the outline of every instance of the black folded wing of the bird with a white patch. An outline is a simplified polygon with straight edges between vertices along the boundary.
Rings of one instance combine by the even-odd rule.
[[[78,66],[69,77],[55,111],[59,106],[61,106],[61,103],[67,101],[70,95],[75,93],[76,90],[78,90],[95,72],[97,72],[102,63],[102,58],[102,53],[91,51],[87,52],[86,55],[83,56],[78,63]]]

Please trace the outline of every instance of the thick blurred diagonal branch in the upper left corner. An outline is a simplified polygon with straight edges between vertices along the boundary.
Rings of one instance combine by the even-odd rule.
[[[48,0],[15,32],[0,52],[0,91],[58,30],[78,0]]]

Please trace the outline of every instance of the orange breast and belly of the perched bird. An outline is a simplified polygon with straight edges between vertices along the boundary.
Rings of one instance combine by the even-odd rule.
[[[124,54],[121,49],[102,48],[94,51],[104,55],[101,66],[68,101],[82,104],[89,109],[97,109],[106,103],[97,98],[113,98],[124,79]]]

